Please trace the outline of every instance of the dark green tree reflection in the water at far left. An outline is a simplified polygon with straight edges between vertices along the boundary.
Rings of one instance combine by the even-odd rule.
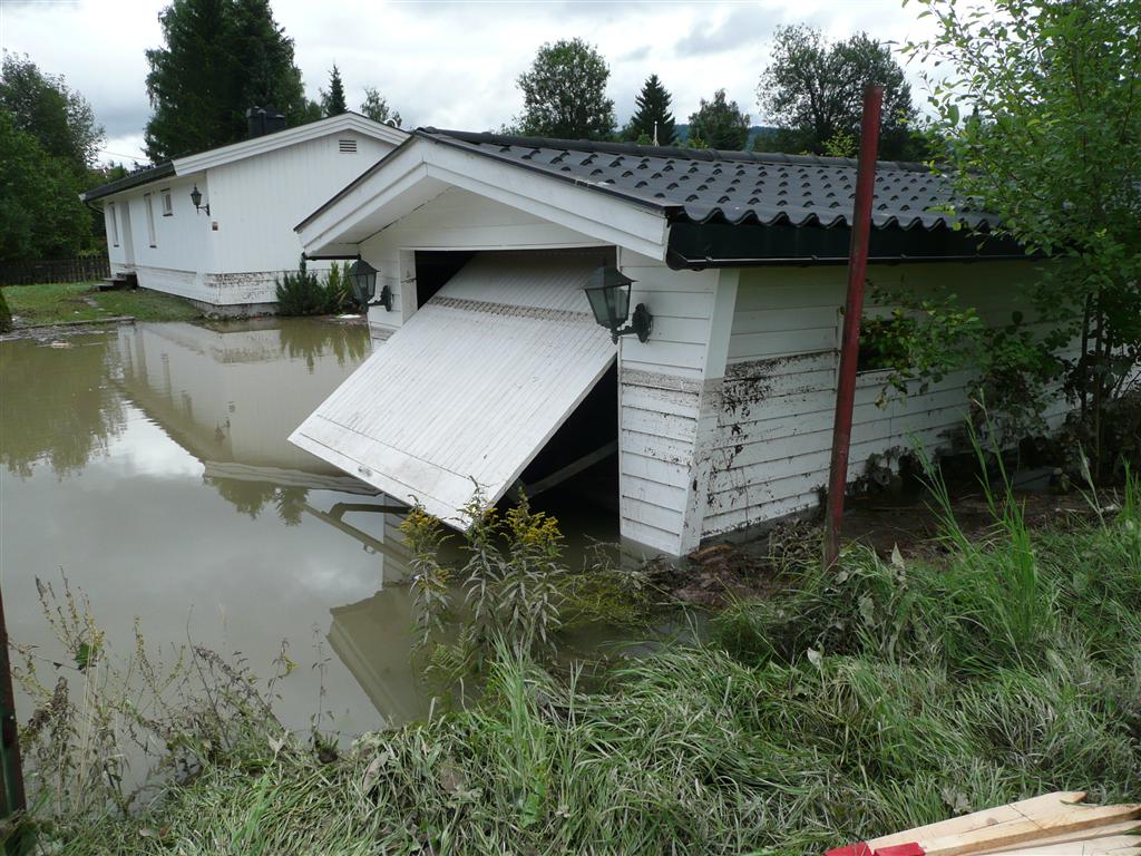
[[[0,459],[14,475],[47,460],[59,476],[82,469],[123,428],[111,389],[115,337],[87,336],[66,348],[30,340],[0,346]]]

